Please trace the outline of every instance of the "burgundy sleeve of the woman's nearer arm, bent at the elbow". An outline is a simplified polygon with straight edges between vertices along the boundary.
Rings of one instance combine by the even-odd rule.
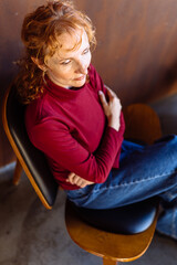
[[[83,179],[102,183],[106,180],[123,140],[123,130],[106,127],[102,142],[94,153],[73,138],[69,128],[46,118],[30,131],[33,145],[66,170]],[[41,137],[42,136],[42,137]]]

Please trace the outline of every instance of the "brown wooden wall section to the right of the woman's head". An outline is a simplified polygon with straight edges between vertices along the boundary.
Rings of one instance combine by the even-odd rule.
[[[177,1],[75,1],[97,29],[94,62],[124,105],[177,91]]]

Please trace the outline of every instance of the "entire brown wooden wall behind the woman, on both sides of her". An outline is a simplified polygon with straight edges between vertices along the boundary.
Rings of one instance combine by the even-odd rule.
[[[44,0],[0,1],[0,105],[22,50],[27,12]],[[93,63],[123,105],[149,102],[177,91],[176,0],[75,0],[96,26]],[[0,167],[13,159],[0,124]]]

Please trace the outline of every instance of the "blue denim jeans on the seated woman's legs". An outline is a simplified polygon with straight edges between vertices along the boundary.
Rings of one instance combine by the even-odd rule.
[[[177,240],[177,136],[152,146],[123,141],[119,168],[101,184],[66,191],[79,206],[111,209],[158,195],[163,213],[157,230]]]

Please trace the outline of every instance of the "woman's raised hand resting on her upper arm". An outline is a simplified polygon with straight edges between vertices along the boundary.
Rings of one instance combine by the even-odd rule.
[[[106,87],[106,89],[107,89],[108,100],[106,100],[106,97],[102,91],[98,92],[100,99],[101,99],[104,113],[107,117],[108,126],[114,128],[115,130],[118,130],[122,105],[116,94],[108,87]]]

